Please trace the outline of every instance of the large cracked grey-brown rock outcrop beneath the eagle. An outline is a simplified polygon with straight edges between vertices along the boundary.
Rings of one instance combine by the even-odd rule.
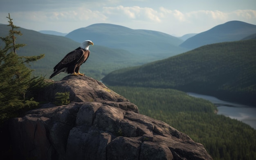
[[[51,103],[9,124],[15,158],[25,160],[211,160],[203,145],[168,124],[138,113],[135,104],[89,77],[67,76],[41,94]]]

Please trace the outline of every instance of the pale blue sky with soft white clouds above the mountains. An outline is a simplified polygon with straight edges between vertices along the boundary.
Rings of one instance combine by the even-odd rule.
[[[0,0],[0,23],[69,33],[95,23],[182,36],[231,20],[256,25],[256,0]]]

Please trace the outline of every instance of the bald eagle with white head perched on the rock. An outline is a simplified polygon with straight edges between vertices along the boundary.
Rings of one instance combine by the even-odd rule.
[[[84,76],[83,73],[79,72],[80,66],[88,59],[90,55],[89,46],[93,43],[90,40],[86,40],[81,43],[80,47],[67,53],[67,55],[54,67],[54,72],[49,77],[51,79],[60,72],[67,72],[72,76]]]

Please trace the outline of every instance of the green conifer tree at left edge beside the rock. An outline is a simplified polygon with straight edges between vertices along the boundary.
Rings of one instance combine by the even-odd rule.
[[[0,37],[0,123],[38,105],[31,93],[35,94],[36,87],[40,88],[45,84],[44,77],[31,78],[33,70],[26,66],[44,55],[18,56],[17,50],[26,45],[15,43],[16,35],[22,33],[17,31],[19,27],[13,24],[10,14],[7,18],[11,28],[9,35]]]

